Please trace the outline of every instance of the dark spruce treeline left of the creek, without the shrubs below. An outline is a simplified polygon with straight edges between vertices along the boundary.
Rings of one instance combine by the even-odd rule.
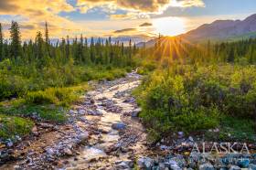
[[[0,24],[0,61],[5,58],[22,60],[25,62],[36,61],[40,67],[48,64],[50,59],[58,62],[66,62],[74,59],[75,64],[111,65],[114,67],[131,66],[132,56],[137,48],[130,40],[128,47],[123,42],[113,42],[112,37],[72,38],[67,36],[57,42],[50,42],[48,23],[45,25],[45,34],[38,31],[34,41],[22,43],[20,28],[16,22],[12,22],[10,28],[10,40],[4,38]]]

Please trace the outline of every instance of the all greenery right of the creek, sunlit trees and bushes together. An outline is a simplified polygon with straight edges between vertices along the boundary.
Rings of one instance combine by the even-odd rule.
[[[255,40],[201,46],[169,39],[163,47],[145,49],[145,58],[151,60],[144,61],[141,69],[148,70],[155,62],[158,67],[134,94],[143,107],[141,117],[151,140],[178,131],[218,129],[216,140],[255,141]]]

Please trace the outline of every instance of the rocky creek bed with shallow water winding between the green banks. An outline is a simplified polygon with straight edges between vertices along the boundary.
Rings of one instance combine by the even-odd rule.
[[[25,140],[0,148],[0,169],[256,169],[253,143],[243,154],[198,153],[198,140],[182,132],[171,143],[147,143],[131,94],[140,81],[132,72],[95,84],[69,111],[65,125],[38,123]],[[213,145],[204,147],[210,151]],[[238,146],[247,151],[243,143]]]

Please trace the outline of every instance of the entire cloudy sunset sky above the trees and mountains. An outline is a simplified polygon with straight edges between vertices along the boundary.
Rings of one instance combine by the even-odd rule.
[[[255,0],[0,0],[0,23],[8,37],[12,20],[22,38],[35,38],[48,22],[52,38],[176,36],[217,19],[244,19]]]

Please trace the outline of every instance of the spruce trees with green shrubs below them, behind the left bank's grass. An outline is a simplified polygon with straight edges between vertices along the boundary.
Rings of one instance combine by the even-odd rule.
[[[113,80],[133,69],[135,45],[112,37],[50,40],[48,24],[35,40],[22,41],[12,22],[10,39],[0,24],[0,101],[23,98],[29,91],[68,87],[89,80]]]

